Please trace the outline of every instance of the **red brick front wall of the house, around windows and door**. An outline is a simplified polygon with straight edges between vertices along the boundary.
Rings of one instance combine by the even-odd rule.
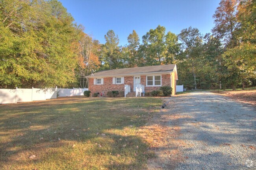
[[[173,80],[174,80],[174,73],[172,74]],[[162,75],[162,86],[171,86],[171,75],[165,74]],[[173,81],[173,87],[174,87],[175,81]],[[130,85],[131,86],[131,92],[134,91],[134,76],[126,76],[124,77],[124,84],[113,84],[112,77],[104,78],[104,84],[102,85],[95,85],[93,84],[93,79],[89,79],[89,90],[91,93],[101,93],[101,91],[104,91],[105,94],[108,91],[124,91],[124,85]],[[158,90],[160,87],[147,87],[146,86],[146,76],[141,76],[141,84],[145,85],[145,91],[152,91],[152,90]],[[173,93],[174,94],[174,93]]]

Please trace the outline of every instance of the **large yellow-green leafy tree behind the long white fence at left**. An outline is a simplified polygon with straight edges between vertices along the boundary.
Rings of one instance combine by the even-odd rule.
[[[74,82],[82,31],[57,0],[0,3],[0,87],[67,86]]]

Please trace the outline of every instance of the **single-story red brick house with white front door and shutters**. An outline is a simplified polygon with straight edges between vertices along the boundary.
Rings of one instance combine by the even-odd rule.
[[[176,64],[169,64],[99,71],[86,78],[91,93],[124,91],[126,96],[128,93],[139,95],[158,90],[161,86],[171,86],[176,94],[178,75]]]

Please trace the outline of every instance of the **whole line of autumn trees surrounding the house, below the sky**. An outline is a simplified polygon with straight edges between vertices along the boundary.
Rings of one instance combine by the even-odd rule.
[[[87,87],[95,71],[176,64],[188,89],[256,86],[256,2],[221,0],[215,26],[176,35],[164,26],[119,46],[113,30],[100,44],[57,0],[0,0],[0,88]]]

